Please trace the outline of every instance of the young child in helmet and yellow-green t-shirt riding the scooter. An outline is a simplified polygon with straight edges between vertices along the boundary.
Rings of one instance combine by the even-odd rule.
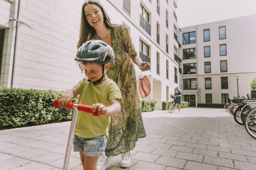
[[[79,104],[92,105],[93,112],[98,109],[97,116],[78,112],[73,139],[73,150],[80,152],[84,169],[97,170],[99,155],[105,155],[109,116],[118,114],[121,107],[121,92],[106,75],[110,62],[114,62],[114,53],[104,41],[89,40],[78,49],[75,60],[87,78],[65,93],[59,106],[66,106],[79,95]]]

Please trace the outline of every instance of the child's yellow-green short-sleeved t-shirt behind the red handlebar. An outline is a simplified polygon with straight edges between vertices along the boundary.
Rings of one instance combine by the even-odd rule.
[[[95,85],[86,78],[74,87],[79,90],[79,104],[92,106],[95,103],[102,103],[108,107],[110,106],[109,102],[111,100],[117,99],[120,102],[122,100],[122,95],[117,84],[111,79]],[[92,114],[78,111],[74,134],[84,138],[101,135],[108,136],[109,123],[110,118],[108,116],[93,116]]]

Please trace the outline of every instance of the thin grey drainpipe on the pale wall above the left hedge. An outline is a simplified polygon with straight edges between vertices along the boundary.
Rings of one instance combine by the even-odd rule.
[[[14,73],[15,73],[15,57],[16,57],[16,47],[19,31],[19,15],[20,15],[20,0],[18,2],[17,18],[16,18],[16,31],[15,31],[15,40],[14,40],[14,59],[12,61],[12,71],[11,71],[11,88],[14,86]]]

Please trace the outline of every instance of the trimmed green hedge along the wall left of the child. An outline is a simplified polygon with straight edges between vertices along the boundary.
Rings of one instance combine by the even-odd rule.
[[[56,108],[64,91],[0,88],[0,130],[69,121],[72,109]]]

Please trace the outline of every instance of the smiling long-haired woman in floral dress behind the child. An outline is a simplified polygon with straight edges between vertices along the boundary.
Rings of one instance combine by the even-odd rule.
[[[142,71],[150,69],[150,65],[137,56],[127,28],[112,24],[103,6],[96,0],[86,1],[82,6],[78,47],[89,39],[101,39],[114,51],[115,62],[111,64],[107,76],[118,84],[123,100],[121,112],[111,117],[105,153],[108,157],[123,153],[120,166],[129,167],[130,150],[135,147],[138,138],[146,136],[138,101],[135,69],[130,59]],[[101,158],[101,163],[104,162],[106,160]]]

